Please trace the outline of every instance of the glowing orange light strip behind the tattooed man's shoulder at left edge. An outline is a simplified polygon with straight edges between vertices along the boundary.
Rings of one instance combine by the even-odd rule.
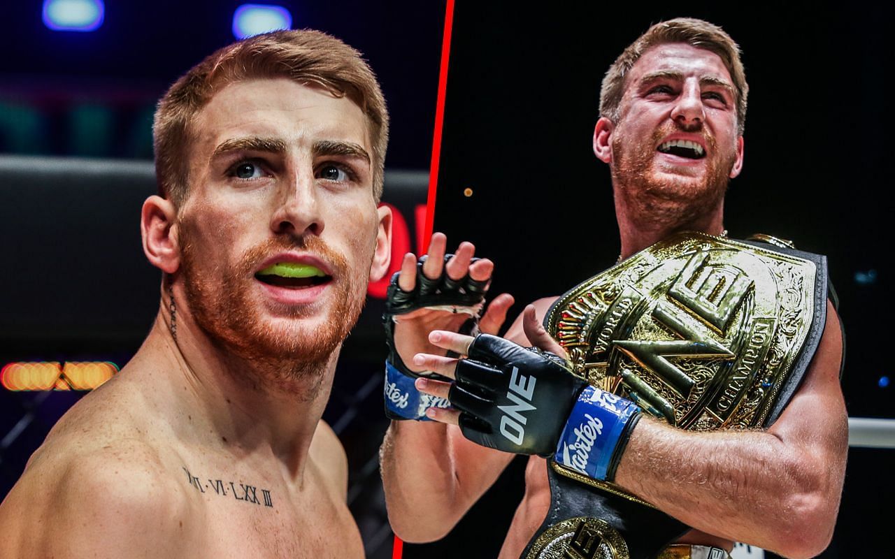
[[[109,361],[40,361],[9,363],[0,370],[0,384],[13,392],[92,390],[118,372]]]

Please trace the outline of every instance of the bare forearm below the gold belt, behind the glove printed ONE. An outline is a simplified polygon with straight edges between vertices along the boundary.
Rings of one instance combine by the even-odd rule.
[[[839,428],[848,432],[844,416]],[[771,432],[694,433],[643,420],[616,481],[696,529],[814,556],[839,508],[844,441],[797,445]]]

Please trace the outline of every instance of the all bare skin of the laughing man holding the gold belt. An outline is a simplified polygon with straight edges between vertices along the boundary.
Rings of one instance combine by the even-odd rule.
[[[686,44],[652,47],[628,72],[616,122],[601,118],[593,135],[594,153],[612,176],[622,258],[678,231],[723,232],[724,191],[740,173],[744,154],[732,90],[720,57]],[[669,142],[690,151],[669,149]],[[701,151],[692,149],[694,143]],[[691,153],[698,157],[686,157]],[[463,272],[455,270],[459,276]],[[535,301],[506,337],[552,351],[556,343],[540,325],[555,300]],[[400,348],[399,336],[411,335],[398,326]],[[497,326],[490,322],[482,332],[495,334]],[[462,353],[472,338],[452,333],[449,326],[439,329],[444,332],[431,333],[428,347],[408,347],[420,352],[413,359],[415,370],[450,376],[445,350]],[[730,549],[733,541],[743,541],[787,557],[818,555],[829,545],[845,475],[848,423],[839,383],[841,353],[839,318],[828,306],[814,360],[771,428],[694,433],[642,419],[616,482],[694,527],[681,542]],[[402,353],[405,362],[409,357]],[[418,379],[416,387],[446,397],[449,384]],[[406,541],[447,535],[513,458],[466,440],[456,428],[457,415],[431,410],[430,419],[441,425],[393,421],[388,430],[381,461],[388,515]],[[550,506],[546,467],[541,458],[529,459],[525,494],[500,559],[519,557],[541,525]]]

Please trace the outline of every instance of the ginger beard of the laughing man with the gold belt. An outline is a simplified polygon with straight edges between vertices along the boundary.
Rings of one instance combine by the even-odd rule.
[[[677,131],[701,133],[705,140],[704,169],[681,167],[679,173],[656,168],[656,146]],[[625,148],[626,138],[612,139],[612,182],[617,196],[625,199],[632,215],[640,218],[644,229],[678,226],[686,228],[700,217],[711,213],[727,191],[730,171],[737,160],[736,145],[719,152],[714,137],[702,125],[662,126],[648,141]],[[628,142],[630,143],[630,142]]]

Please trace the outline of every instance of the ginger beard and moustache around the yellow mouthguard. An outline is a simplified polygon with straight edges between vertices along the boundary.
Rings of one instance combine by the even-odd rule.
[[[270,239],[246,250],[234,266],[215,262],[203,270],[192,243],[183,239],[183,234],[182,240],[181,270],[188,306],[209,340],[226,353],[250,362],[266,377],[258,379],[267,381],[264,384],[314,397],[330,357],[361,314],[366,301],[365,270],[351,270],[345,256],[314,236]],[[314,254],[330,267],[333,279],[328,289],[335,292],[328,298],[333,302],[327,318],[313,329],[295,324],[312,312],[309,309],[296,308],[290,311],[291,316],[267,318],[262,316],[259,301],[250,296],[251,282],[257,281],[253,274],[260,263],[286,250]],[[295,381],[300,380],[311,382],[296,386]],[[257,382],[254,384],[257,386]]]

